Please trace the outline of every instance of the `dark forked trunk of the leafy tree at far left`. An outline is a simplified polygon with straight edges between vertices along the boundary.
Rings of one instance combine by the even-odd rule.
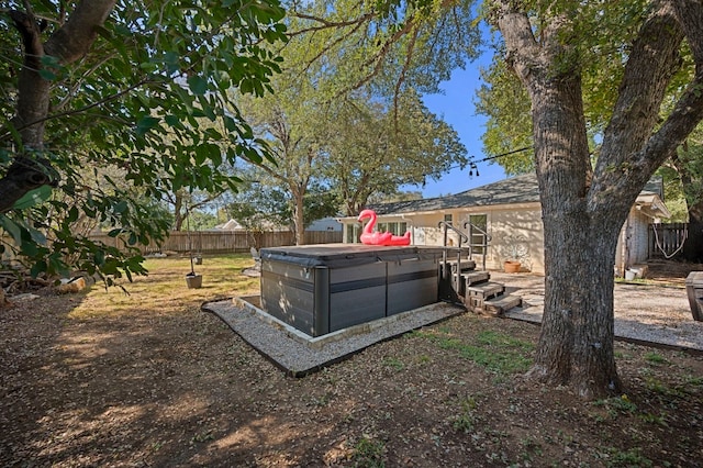
[[[22,149],[0,179],[0,213],[10,210],[27,191],[57,183],[57,174],[42,156],[52,88],[51,81],[40,75],[44,68],[42,58],[53,56],[59,64],[68,65],[82,57],[98,37],[98,26],[104,23],[114,3],[114,0],[79,2],[66,24],[46,43],[42,42],[40,21],[29,10],[29,2],[25,2],[27,10],[9,12],[22,35],[25,57],[18,82],[18,112],[12,121]]]

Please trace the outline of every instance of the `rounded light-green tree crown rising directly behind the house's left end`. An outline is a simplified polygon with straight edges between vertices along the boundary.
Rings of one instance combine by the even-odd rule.
[[[412,90],[395,107],[349,100],[331,112],[326,175],[352,216],[372,197],[391,196],[404,185],[437,180],[467,164],[457,133],[427,110]]]

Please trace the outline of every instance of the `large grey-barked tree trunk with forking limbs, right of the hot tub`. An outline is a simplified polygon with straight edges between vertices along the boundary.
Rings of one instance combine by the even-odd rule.
[[[692,87],[652,134],[683,37],[671,3],[655,3],[655,14],[633,45],[593,172],[580,64],[576,51],[562,42],[573,29],[572,19],[567,13],[551,16],[538,42],[528,14],[514,10],[514,2],[501,2],[498,14],[507,58],[532,100],[545,230],[545,309],[531,376],[570,385],[583,398],[621,390],[613,332],[620,229],[651,174],[703,113],[701,93]],[[679,7],[678,20],[681,11],[693,16],[689,26],[696,36],[703,24],[700,3],[694,8],[682,0]],[[692,48],[703,58],[703,46]]]

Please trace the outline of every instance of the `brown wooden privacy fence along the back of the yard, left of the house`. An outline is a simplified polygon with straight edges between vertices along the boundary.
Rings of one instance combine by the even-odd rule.
[[[124,246],[122,241],[110,237],[107,234],[91,234],[93,241],[101,241],[107,245],[118,248]],[[342,242],[341,231],[310,231],[305,233],[305,244],[332,244]],[[168,238],[157,246],[156,244],[140,246],[143,254],[157,252],[192,252],[201,254],[223,254],[236,252],[249,252],[252,247],[280,247],[293,244],[293,233],[280,232],[245,232],[245,231],[198,231],[182,232],[171,231]]]

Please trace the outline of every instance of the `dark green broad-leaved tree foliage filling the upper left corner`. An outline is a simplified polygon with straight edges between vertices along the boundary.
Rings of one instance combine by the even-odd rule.
[[[77,237],[71,223],[97,219],[127,246],[158,242],[167,220],[134,191],[153,201],[232,188],[222,165],[267,157],[228,91],[270,91],[270,45],[287,40],[277,0],[5,5],[0,223],[35,275],[66,270],[70,252],[89,272],[142,272],[138,255]],[[47,202],[15,205],[29,192]]]

